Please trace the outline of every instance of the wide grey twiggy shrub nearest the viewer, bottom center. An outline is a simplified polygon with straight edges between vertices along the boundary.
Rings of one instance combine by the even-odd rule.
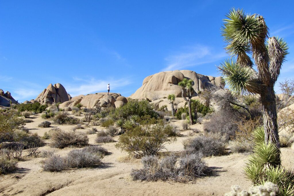
[[[176,157],[171,155],[159,160],[156,156],[145,156],[141,160],[142,169],[133,169],[131,176],[133,180],[175,180],[186,182],[197,177],[207,175],[208,167],[202,160],[201,154],[187,154],[179,160],[176,166]]]

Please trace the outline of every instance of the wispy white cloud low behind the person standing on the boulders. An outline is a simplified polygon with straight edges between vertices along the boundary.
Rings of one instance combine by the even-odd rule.
[[[113,92],[114,90],[121,88],[123,86],[127,86],[131,84],[131,81],[128,78],[121,78],[121,79],[110,79],[110,80],[96,80],[95,78],[91,79],[82,79],[82,78],[75,78],[76,81],[83,81],[82,84],[77,84],[75,86],[67,85],[66,91],[72,96],[78,95],[86,95],[89,93],[96,93],[96,92],[106,92],[107,91],[107,84],[110,83],[110,89]]]

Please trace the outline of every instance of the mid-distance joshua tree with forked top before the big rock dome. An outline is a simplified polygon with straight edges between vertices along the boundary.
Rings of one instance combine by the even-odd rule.
[[[193,80],[188,80],[187,78],[184,78],[181,82],[178,83],[179,86],[181,86],[182,88],[182,97],[184,98],[184,100],[188,103],[188,109],[189,109],[189,118],[190,118],[190,124],[193,125],[193,118],[192,118],[192,110],[191,110],[191,98],[194,92],[193,89]],[[187,91],[187,96],[188,99],[185,97],[184,93],[185,90]],[[194,113],[194,119],[197,120],[197,106],[195,108],[195,113]]]

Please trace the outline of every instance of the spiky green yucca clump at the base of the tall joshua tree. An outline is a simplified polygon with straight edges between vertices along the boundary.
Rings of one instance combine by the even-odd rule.
[[[273,182],[278,186],[277,195],[294,195],[294,173],[280,165],[280,151],[273,143],[265,143],[263,127],[253,131],[253,154],[248,158],[244,174],[253,185]]]

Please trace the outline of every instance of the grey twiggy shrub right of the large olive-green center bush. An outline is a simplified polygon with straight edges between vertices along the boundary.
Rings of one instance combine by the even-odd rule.
[[[200,135],[183,142],[184,148],[191,153],[199,152],[205,157],[224,155],[227,138],[220,134]]]

